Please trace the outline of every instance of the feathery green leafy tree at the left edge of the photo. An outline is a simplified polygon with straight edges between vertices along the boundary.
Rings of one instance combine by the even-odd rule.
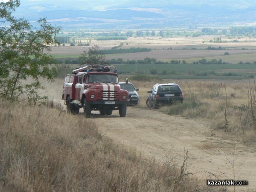
[[[61,27],[52,27],[46,19],[38,20],[39,29],[33,29],[27,20],[16,19],[12,12],[19,0],[0,3],[0,96],[10,102],[19,96],[40,99],[38,89],[44,89],[39,77],[53,81],[56,71],[50,68],[53,57],[48,55],[54,36]],[[31,79],[32,83],[27,80]]]

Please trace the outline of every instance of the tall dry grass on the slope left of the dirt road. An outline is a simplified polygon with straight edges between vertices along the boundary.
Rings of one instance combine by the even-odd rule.
[[[0,191],[209,191],[194,177],[178,180],[173,160],[145,161],[92,119],[61,110],[0,101]]]

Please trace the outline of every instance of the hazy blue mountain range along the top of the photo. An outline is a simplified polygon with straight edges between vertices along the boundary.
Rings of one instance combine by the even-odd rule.
[[[15,16],[64,29],[159,29],[247,25],[255,0],[20,0]]]

